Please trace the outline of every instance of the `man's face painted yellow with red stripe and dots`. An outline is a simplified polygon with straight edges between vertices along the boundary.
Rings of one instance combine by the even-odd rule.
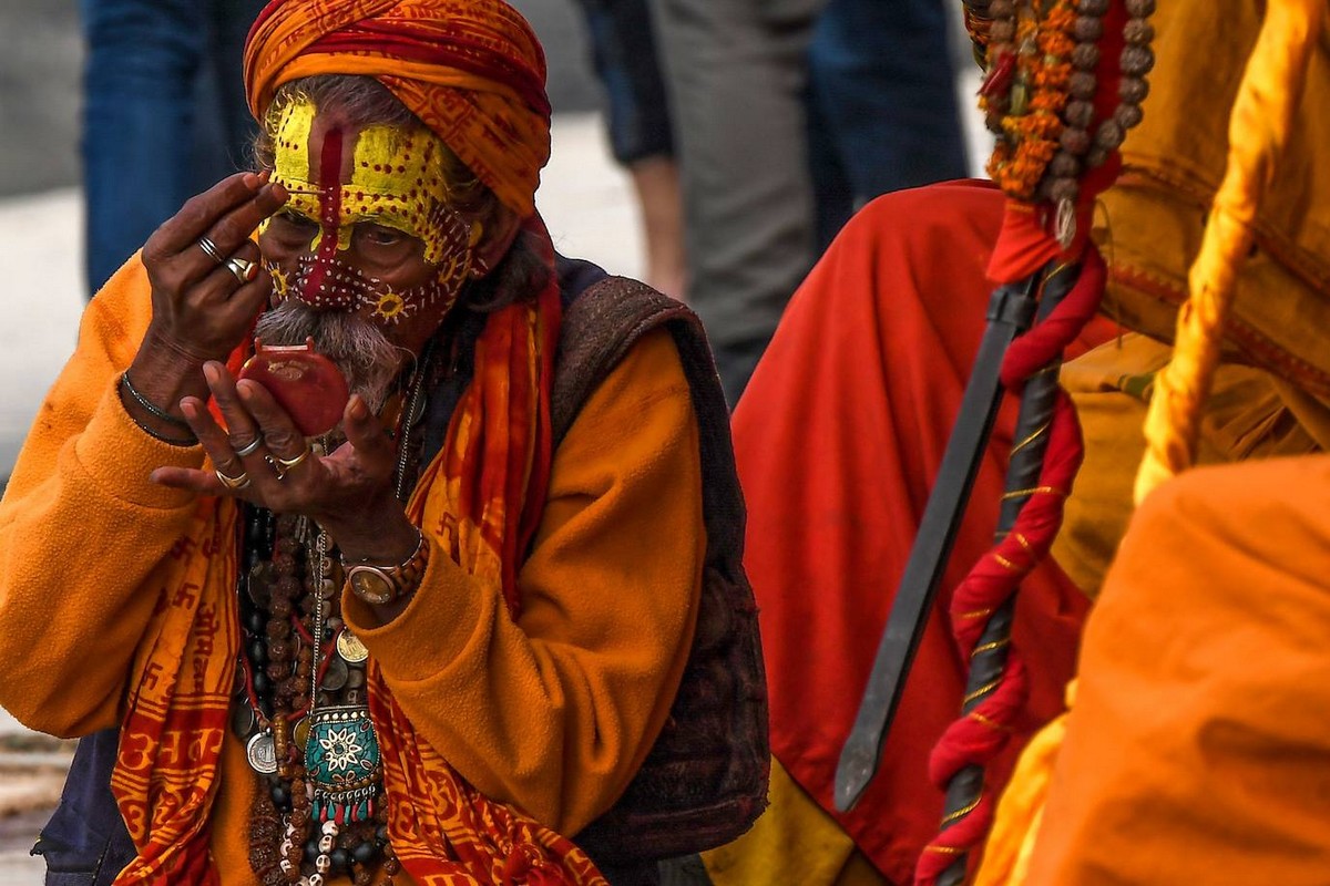
[[[273,181],[290,195],[259,238],[274,302],[355,312],[390,336],[392,327],[436,325],[481,238],[480,224],[448,203],[439,138],[346,125],[294,101],[274,142]]]

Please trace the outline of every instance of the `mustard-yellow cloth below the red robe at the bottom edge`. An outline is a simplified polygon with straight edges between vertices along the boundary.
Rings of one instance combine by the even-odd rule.
[[[738,840],[702,853],[714,886],[878,886],[887,879],[849,834],[771,758],[770,806]]]

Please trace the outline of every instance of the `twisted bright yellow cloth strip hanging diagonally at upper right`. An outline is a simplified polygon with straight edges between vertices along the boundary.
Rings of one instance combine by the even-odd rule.
[[[1190,295],[1178,312],[1173,359],[1160,372],[1150,399],[1137,503],[1196,460],[1200,414],[1220,361],[1237,276],[1252,246],[1266,185],[1289,141],[1325,13],[1321,0],[1269,4],[1233,105],[1224,181],[1188,279]]]

